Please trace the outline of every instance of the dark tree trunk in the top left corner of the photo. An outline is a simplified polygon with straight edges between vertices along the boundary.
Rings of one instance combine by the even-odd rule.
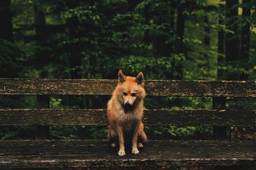
[[[11,1],[1,0],[0,1],[0,21],[1,21],[1,31],[0,38],[6,39],[8,41],[14,42],[13,38],[13,27],[12,27],[12,14],[11,14]]]

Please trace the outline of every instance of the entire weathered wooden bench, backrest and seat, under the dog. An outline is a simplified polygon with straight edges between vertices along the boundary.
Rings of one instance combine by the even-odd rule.
[[[256,166],[255,141],[228,141],[225,127],[256,126],[255,110],[225,110],[226,97],[256,97],[256,81],[145,82],[147,96],[212,97],[212,110],[145,110],[145,125],[214,126],[218,140],[149,141],[117,155],[107,140],[51,140],[51,125],[106,125],[106,110],[52,110],[50,95],[110,96],[116,80],[0,79],[1,95],[36,95],[38,109],[1,109],[0,125],[36,125],[37,139],[1,140],[0,168]]]

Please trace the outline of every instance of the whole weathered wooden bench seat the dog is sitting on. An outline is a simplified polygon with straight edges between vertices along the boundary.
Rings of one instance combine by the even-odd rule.
[[[256,166],[256,141],[149,141],[139,150],[119,157],[107,140],[1,140],[0,168]]]

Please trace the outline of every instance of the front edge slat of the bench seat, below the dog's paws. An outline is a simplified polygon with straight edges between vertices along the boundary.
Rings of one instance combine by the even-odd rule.
[[[179,150],[180,148],[178,148]],[[220,148],[215,148],[220,150]],[[61,167],[173,167],[173,166],[256,166],[255,157],[246,156],[246,152],[233,150],[225,155],[218,156],[214,154],[200,154],[197,157],[191,151],[186,154],[180,154],[176,149],[175,155],[164,155],[158,153],[150,155],[141,153],[140,155],[127,155],[118,157],[115,154],[65,154],[65,155],[20,155],[0,157],[0,169],[15,168],[61,168]],[[211,150],[211,148],[210,148]],[[170,150],[172,151],[172,150]],[[173,150],[174,151],[174,150]],[[193,150],[195,152],[195,150]],[[240,152],[242,151],[242,152]],[[204,151],[201,151],[204,152]],[[205,150],[209,153],[209,150]],[[237,155],[233,153],[241,153]],[[252,155],[252,151],[248,154]],[[177,157],[177,155],[179,155]],[[195,157],[193,157],[195,155]],[[204,156],[207,155],[205,158]]]

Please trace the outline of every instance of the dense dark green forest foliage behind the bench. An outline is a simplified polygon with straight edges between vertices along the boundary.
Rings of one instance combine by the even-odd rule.
[[[234,23],[239,25],[239,38],[242,27],[251,24],[250,59],[248,62],[237,59],[219,63],[218,56],[225,55],[218,52],[218,33],[235,33],[219,22],[220,18],[230,20],[225,18],[221,1],[108,0],[70,3],[72,7],[66,0],[12,1],[15,43],[0,39],[0,74],[15,73],[13,76],[22,78],[70,78],[73,71],[79,70],[79,78],[116,79],[118,69],[122,69],[129,75],[142,71],[146,80],[219,80],[230,74],[248,74],[248,80],[256,80],[256,57],[253,57],[256,55],[255,0],[234,7],[239,8]],[[35,23],[42,22],[36,20],[35,6],[44,14],[41,19],[45,19],[45,37],[38,36],[35,29]],[[182,36],[177,35],[182,30],[177,14],[180,7],[183,8],[185,20]],[[244,7],[251,8],[254,11],[252,15],[241,15],[241,8]],[[44,39],[44,43],[40,42],[40,38]],[[181,50],[178,50],[179,47]],[[218,69],[225,71],[223,77],[217,76]],[[50,108],[106,108],[107,99],[99,96],[51,96]],[[0,96],[0,101],[1,108],[36,108],[35,96]],[[255,109],[255,100],[228,98],[227,106],[230,110]],[[210,97],[146,97],[145,108],[208,110],[212,108],[212,101]],[[212,129],[208,127],[145,129],[150,138],[192,138],[193,135],[210,138],[212,134]],[[27,127],[9,130],[7,127],[1,130],[0,137],[20,138],[20,134],[31,132],[26,137],[33,138],[35,134],[35,129]],[[238,130],[233,130],[236,137]],[[101,139],[106,138],[106,134],[106,127],[51,127],[51,136],[56,139]]]

